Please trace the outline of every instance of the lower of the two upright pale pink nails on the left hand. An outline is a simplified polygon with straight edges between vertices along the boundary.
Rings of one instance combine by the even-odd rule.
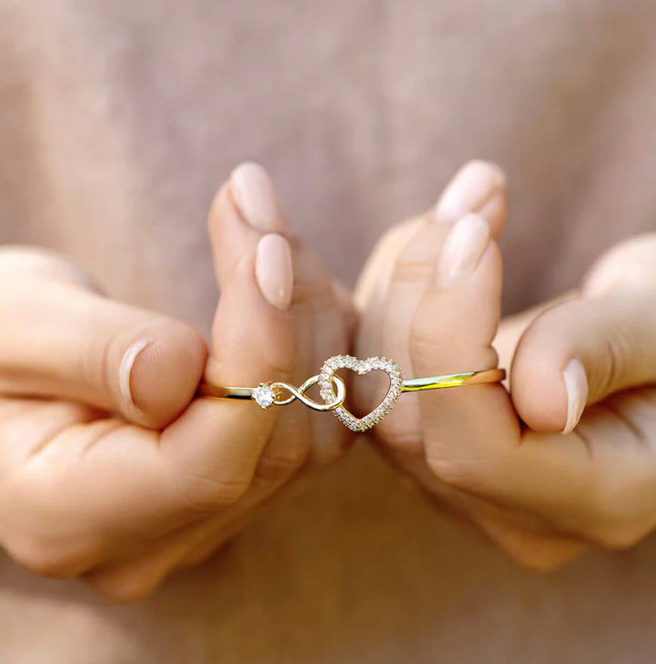
[[[264,299],[281,311],[292,303],[292,250],[282,235],[260,238],[255,254],[255,279]]]

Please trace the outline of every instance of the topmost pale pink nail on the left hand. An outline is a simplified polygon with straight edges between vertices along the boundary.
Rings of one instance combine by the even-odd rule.
[[[241,164],[230,175],[234,203],[244,220],[265,233],[283,228],[273,182],[260,164]]]

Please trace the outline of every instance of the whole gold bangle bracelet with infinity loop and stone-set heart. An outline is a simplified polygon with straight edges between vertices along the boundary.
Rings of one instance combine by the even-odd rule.
[[[335,374],[339,369],[350,369],[360,375],[369,372],[385,372],[390,385],[376,408],[363,418],[357,418],[343,406],[346,397],[346,385]],[[308,378],[303,385],[296,388],[287,382],[261,382],[257,387],[223,387],[202,382],[197,391],[198,396],[214,399],[246,399],[255,401],[261,408],[269,406],[286,406],[292,401],[301,401],[314,411],[332,411],[335,417],[352,431],[370,429],[389,411],[393,409],[403,392],[440,390],[447,387],[463,385],[480,385],[486,382],[502,382],[506,377],[504,369],[488,369],[481,372],[450,373],[443,376],[412,378],[404,381],[401,369],[396,362],[384,357],[370,357],[358,360],[351,355],[335,355],[323,362],[321,372]],[[319,384],[323,403],[305,396],[305,391]],[[286,392],[286,396],[285,396]]]

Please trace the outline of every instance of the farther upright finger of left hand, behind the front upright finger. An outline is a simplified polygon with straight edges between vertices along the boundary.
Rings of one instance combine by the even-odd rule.
[[[292,246],[294,286],[290,311],[297,337],[297,362],[292,378],[293,382],[301,384],[319,371],[327,357],[346,351],[349,338],[343,304],[341,307],[335,284],[322,263],[293,236],[269,174],[259,164],[242,164],[234,169],[230,182],[214,201],[210,215],[219,283],[230,269],[234,254],[256,242],[263,229],[283,233]],[[278,429],[280,432],[276,431],[268,442],[261,463],[272,469],[286,467],[287,474],[308,454],[313,462],[333,460],[343,452],[349,440],[334,418],[304,408],[285,411]],[[308,435],[308,431],[313,431],[313,435]],[[265,468],[262,471],[267,473]],[[284,471],[277,474],[284,474]]]

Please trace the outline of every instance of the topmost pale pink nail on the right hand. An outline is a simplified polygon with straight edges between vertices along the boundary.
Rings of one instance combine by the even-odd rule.
[[[495,164],[480,160],[462,166],[446,185],[435,208],[435,221],[453,223],[482,207],[506,185],[506,176]]]

